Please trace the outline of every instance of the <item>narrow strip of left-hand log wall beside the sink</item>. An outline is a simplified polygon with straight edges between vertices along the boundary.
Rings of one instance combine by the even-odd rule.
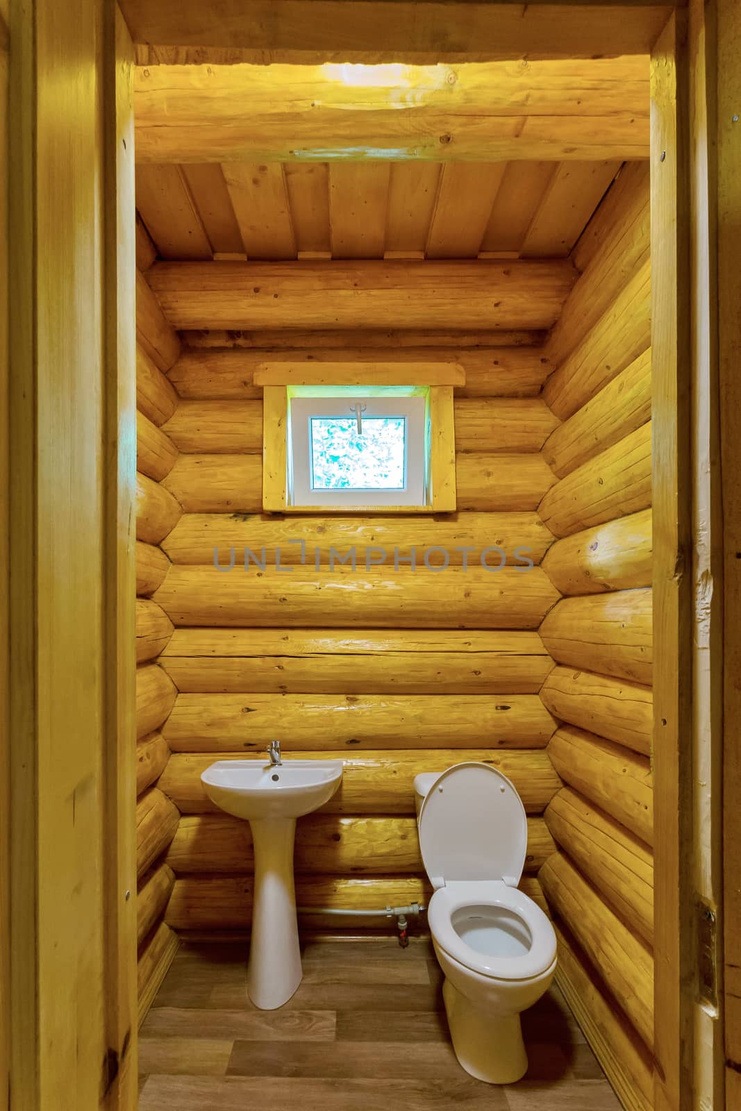
[[[164,371],[180,351],[180,340],[162,316],[142,269],[152,259],[139,237],[137,273],[137,939],[139,945],[139,1018],[147,1013],[170,960],[177,935],[163,921],[174,877],[164,854],[180,812],[157,787],[170,749],[161,728],[177,690],[157,663],[172,635],[172,622],[152,594],[170,565],[159,547],[182,512],[178,499],[160,483],[178,459],[164,424],[178,394]],[[150,244],[151,248],[151,244]],[[141,256],[141,258],[139,257]]]

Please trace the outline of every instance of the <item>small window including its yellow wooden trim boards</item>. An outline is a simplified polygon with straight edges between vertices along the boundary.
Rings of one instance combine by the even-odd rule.
[[[457,363],[263,363],[253,380],[267,512],[455,509]]]

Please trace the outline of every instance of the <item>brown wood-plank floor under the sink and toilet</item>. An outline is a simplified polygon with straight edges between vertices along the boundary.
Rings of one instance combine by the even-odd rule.
[[[183,945],[141,1029],[140,1111],[620,1111],[555,989],[523,1017],[525,1079],[495,1088],[458,1064],[441,985],[425,939],[314,941],[259,1011],[243,945]]]

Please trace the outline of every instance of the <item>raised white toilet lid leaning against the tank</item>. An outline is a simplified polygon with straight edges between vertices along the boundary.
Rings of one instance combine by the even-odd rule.
[[[517,884],[528,851],[528,819],[507,775],[491,764],[461,763],[427,792],[419,838],[434,887],[455,880]]]

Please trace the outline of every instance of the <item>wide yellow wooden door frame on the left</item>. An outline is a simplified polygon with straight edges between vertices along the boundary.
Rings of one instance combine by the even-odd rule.
[[[133,1111],[133,50],[110,0],[10,0],[9,59],[1,1100]]]

